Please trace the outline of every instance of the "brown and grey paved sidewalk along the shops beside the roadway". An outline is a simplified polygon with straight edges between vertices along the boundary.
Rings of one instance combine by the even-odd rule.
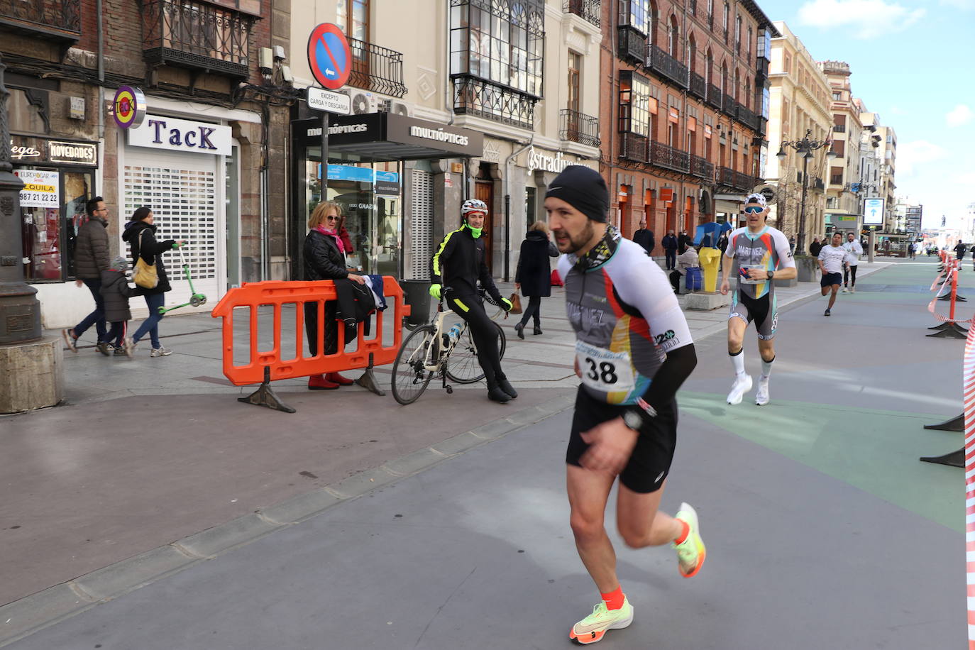
[[[889,266],[863,264],[858,280]],[[815,283],[776,292],[780,309],[819,294]],[[874,297],[869,290],[855,295],[863,304]],[[0,504],[0,541],[10,551],[0,584],[0,603],[9,603],[0,607],[0,645],[378,486],[447,459],[452,467],[457,453],[528,426],[524,436],[568,408],[577,384],[561,296],[557,290],[542,303],[544,335],[522,341],[514,322],[505,324],[505,369],[522,392],[507,405],[466,394],[483,386],[458,386],[448,396],[432,383],[403,407],[358,387],[310,393],[297,380],[275,383],[297,407],[293,415],[240,404],[234,397],[253,387],[222,379],[219,322],[202,315],[162,322],[164,342],[176,350],[169,358],[142,351],[134,361],[109,359],[94,348],[67,354],[67,405],[0,418],[9,451],[0,476],[11,496]],[[714,381],[727,383],[723,339],[707,338],[723,332],[726,308],[687,317],[701,350],[721,358]],[[754,346],[746,347],[754,357]],[[702,370],[708,365],[694,379]],[[388,382],[383,368],[377,374]],[[380,400],[387,407],[377,407]],[[344,426],[326,429],[334,413]]]

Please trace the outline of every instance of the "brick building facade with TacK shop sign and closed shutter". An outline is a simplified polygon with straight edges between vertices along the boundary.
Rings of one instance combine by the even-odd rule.
[[[44,326],[73,325],[92,309],[91,295],[74,286],[72,257],[95,196],[110,212],[113,254],[127,251],[124,225],[148,206],[161,236],[188,242],[195,287],[212,302],[228,286],[268,276],[273,239],[261,188],[284,186],[284,169],[268,164],[280,141],[269,132],[283,120],[251,89],[264,83],[258,53],[270,43],[272,6],[0,3],[15,172],[31,184],[20,196],[24,270]],[[121,86],[144,93],[137,128],[113,119]],[[177,258],[167,261],[178,268]],[[189,287],[171,275],[167,302],[178,304]]]

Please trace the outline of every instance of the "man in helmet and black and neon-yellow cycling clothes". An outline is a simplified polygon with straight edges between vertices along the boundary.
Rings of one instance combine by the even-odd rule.
[[[505,311],[511,311],[512,305],[497,292],[487,270],[487,251],[482,237],[487,204],[471,199],[464,202],[460,211],[462,225],[447,234],[431,260],[433,284],[430,295],[438,300],[443,295],[448,308],[467,322],[478,349],[478,363],[487,379],[487,399],[504,403],[517,398],[518,392],[501,370],[497,328],[487,318],[484,302],[478,294],[478,281]]]

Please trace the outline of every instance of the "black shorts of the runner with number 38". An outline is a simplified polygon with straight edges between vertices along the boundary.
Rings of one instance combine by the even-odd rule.
[[[598,424],[619,417],[632,406],[607,404],[589,396],[582,386],[575,396],[575,414],[572,416],[572,431],[565,450],[565,463],[581,467],[579,459],[589,449],[580,432],[589,431]],[[634,492],[646,494],[656,492],[663,485],[670,472],[677,444],[677,401],[671,401],[666,409],[661,409],[651,418],[640,432],[637,444],[630,455],[630,461],[619,475],[621,483]]]

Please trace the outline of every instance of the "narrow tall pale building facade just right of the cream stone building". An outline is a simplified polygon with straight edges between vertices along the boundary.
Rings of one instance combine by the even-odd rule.
[[[863,123],[860,104],[850,86],[850,66],[843,61],[821,61],[820,69],[830,83],[833,113],[833,160],[828,162],[826,180],[825,233],[856,230],[860,200],[853,184],[860,178],[860,140]]]

